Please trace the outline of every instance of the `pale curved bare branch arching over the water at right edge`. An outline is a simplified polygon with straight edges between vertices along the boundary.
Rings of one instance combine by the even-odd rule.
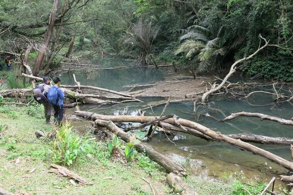
[[[273,117],[273,116],[264,115],[261,113],[247,113],[247,112],[233,113],[230,116],[224,118],[223,120],[224,121],[232,120],[236,117],[259,117],[261,120],[272,120],[283,125],[293,125],[293,120],[287,120],[280,117]]]

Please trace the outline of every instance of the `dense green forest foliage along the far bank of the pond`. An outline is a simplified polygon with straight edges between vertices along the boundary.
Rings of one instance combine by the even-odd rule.
[[[2,0],[0,50],[24,53],[27,44],[41,43],[50,10],[47,0]],[[292,81],[292,11],[292,0],[60,0],[44,63],[54,68],[76,36],[77,56],[92,59],[103,52],[207,72],[253,53],[261,34],[279,47],[265,48],[242,70]]]

